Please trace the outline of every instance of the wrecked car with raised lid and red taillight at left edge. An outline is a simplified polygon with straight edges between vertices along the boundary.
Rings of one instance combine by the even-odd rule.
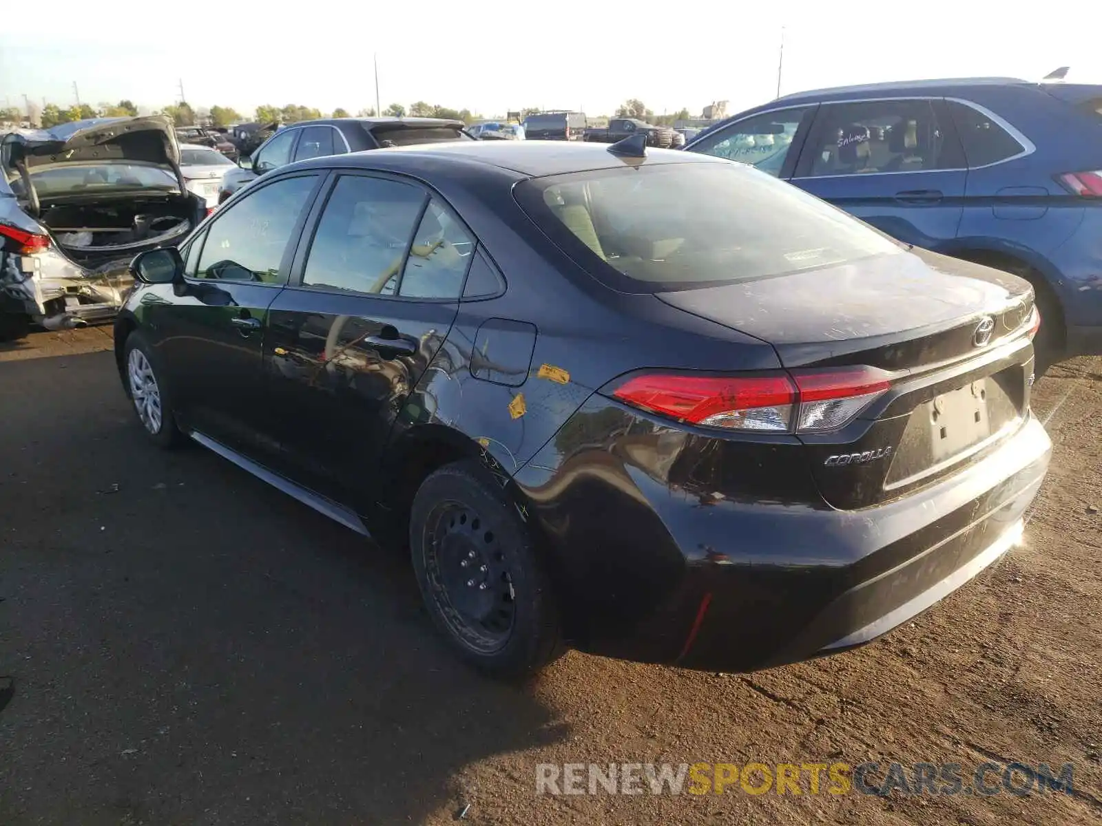
[[[164,116],[97,118],[0,139],[0,338],[109,320],[136,254],[206,216]]]

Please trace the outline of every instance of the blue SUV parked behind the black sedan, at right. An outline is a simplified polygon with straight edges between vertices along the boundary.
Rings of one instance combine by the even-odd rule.
[[[1102,352],[1102,86],[1013,78],[806,91],[685,145],[907,243],[1028,279],[1041,367]]]

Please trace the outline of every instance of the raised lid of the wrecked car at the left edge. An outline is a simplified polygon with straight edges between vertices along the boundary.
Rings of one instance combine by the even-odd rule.
[[[143,118],[91,118],[50,129],[24,129],[3,138],[0,163],[4,170],[28,170],[45,164],[140,161],[170,171],[186,187],[180,172],[180,144],[172,121],[164,115]]]

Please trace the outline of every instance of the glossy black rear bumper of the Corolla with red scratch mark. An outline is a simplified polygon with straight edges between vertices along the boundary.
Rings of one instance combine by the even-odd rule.
[[[619,610],[594,608],[587,584],[560,570],[571,595],[564,612],[587,612],[574,618],[575,644],[592,653],[730,672],[864,644],[951,594],[1020,539],[1050,450],[1040,423],[1029,420],[955,476],[856,511],[768,500],[702,508],[695,498],[676,497],[683,509],[677,512],[661,491],[638,485],[633,498],[648,500],[662,534],[653,522],[647,525],[642,511],[617,512],[614,498],[595,501],[591,489],[591,507],[614,523],[630,520],[625,530],[649,536],[651,547],[636,544],[635,558],[617,548],[619,574],[605,563],[605,601]],[[637,471],[627,477],[642,481]],[[561,526],[550,526],[559,528],[558,541],[571,542]],[[667,541],[667,551],[655,551]],[[562,553],[575,559],[579,554]],[[586,553],[607,550],[592,546]],[[656,559],[661,570],[650,578],[631,567]],[[666,585],[651,587],[649,606],[641,606],[608,593],[622,580]]]

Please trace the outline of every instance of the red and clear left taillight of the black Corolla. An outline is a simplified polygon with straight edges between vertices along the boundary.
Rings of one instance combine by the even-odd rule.
[[[745,376],[633,373],[612,396],[701,427],[757,433],[824,433],[849,424],[892,385],[874,367]]]

